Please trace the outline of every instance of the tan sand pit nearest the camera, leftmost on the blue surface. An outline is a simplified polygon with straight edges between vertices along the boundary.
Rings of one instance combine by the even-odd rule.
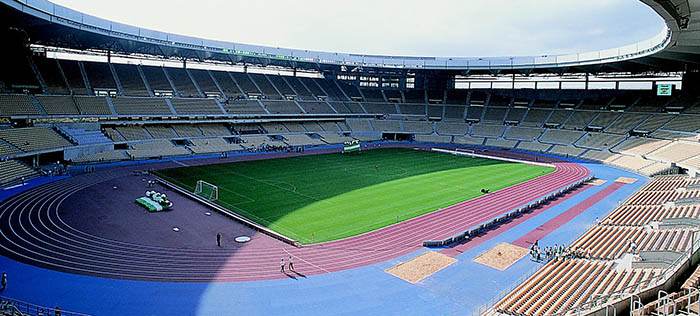
[[[387,269],[386,272],[399,279],[416,284],[455,262],[457,262],[455,258],[439,252],[428,251],[410,261],[399,263]]]

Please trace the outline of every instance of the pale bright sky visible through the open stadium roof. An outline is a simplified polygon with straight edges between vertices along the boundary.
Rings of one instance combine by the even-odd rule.
[[[539,56],[651,38],[639,0],[51,0],[112,21],[206,39],[400,56]]]

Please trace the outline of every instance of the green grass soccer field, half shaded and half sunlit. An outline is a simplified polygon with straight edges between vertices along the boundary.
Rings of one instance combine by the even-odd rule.
[[[183,167],[157,174],[301,243],[373,231],[548,174],[553,168],[412,149]],[[176,206],[177,207],[177,206]]]

